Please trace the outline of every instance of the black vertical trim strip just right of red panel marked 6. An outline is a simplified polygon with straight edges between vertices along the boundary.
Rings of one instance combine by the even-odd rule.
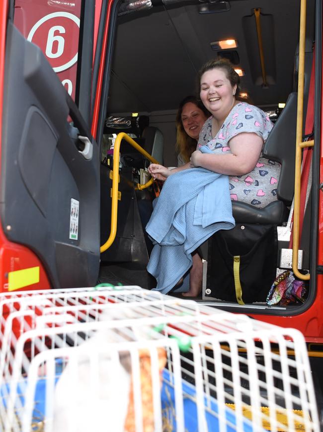
[[[75,102],[86,124],[91,120],[91,81],[94,34],[94,0],[83,0],[81,6],[81,28],[79,38],[79,57],[76,79]]]

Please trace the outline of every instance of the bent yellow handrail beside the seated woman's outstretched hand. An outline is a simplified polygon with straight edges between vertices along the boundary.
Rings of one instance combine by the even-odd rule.
[[[100,247],[100,252],[105,252],[114,242],[115,236],[117,234],[117,217],[118,217],[118,179],[119,179],[119,154],[120,154],[120,144],[121,140],[126,140],[131,144],[136,150],[143,154],[147,159],[153,163],[158,163],[154,157],[152,157],[147,151],[145,151],[139,144],[137,144],[129,135],[121,132],[117,135],[114,142],[113,150],[113,170],[112,170],[112,198],[111,198],[111,230],[108,240]],[[150,183],[151,182],[151,183]],[[153,180],[149,180],[145,185],[140,185],[141,189],[148,187],[152,184]]]

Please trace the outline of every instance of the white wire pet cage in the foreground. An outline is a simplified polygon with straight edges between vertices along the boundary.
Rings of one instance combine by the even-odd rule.
[[[139,287],[0,294],[0,430],[319,431],[306,344]]]

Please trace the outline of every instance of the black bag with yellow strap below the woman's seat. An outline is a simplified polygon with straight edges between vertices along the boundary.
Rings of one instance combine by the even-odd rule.
[[[277,227],[242,225],[209,239],[206,298],[266,301],[276,278]]]

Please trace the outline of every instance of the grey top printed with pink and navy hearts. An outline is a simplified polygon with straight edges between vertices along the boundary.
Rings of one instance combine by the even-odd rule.
[[[212,139],[212,117],[203,125],[197,148],[207,145],[214,153],[231,153],[230,140],[242,132],[257,134],[265,142],[273,125],[259,108],[245,102],[237,104],[229,113],[216,137]],[[255,168],[248,174],[230,176],[230,195],[234,201],[242,201],[262,208],[277,199],[277,183],[280,164],[260,154]]]

